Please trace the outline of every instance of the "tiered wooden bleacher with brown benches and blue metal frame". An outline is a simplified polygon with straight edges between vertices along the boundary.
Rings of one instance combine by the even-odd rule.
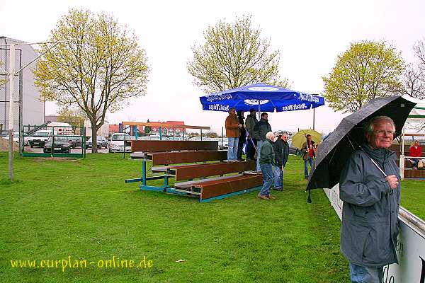
[[[200,202],[259,189],[263,175],[246,173],[254,171],[256,164],[253,161],[223,162],[227,158],[227,151],[218,151],[217,142],[131,141],[132,152],[142,152],[142,178],[126,182],[141,181],[141,190],[190,195],[198,197]],[[147,161],[152,161],[152,173],[164,174],[164,185],[147,185],[147,181],[161,177],[147,177]],[[169,178],[184,182],[175,183],[171,187]]]

